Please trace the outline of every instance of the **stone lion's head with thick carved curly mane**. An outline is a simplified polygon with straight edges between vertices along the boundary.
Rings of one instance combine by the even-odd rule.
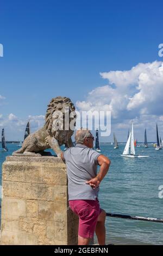
[[[65,127],[65,109],[68,109],[69,113],[68,130]],[[70,129],[70,122],[76,120],[76,117],[75,107],[70,98],[61,96],[53,98],[48,105],[45,116],[45,125],[48,134],[56,138],[60,142],[59,144],[64,143],[73,135],[73,130]],[[74,121],[75,125],[76,123]]]

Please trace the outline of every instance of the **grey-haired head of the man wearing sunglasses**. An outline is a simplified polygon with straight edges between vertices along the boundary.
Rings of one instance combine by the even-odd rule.
[[[88,129],[81,128],[80,130],[77,130],[75,140],[76,143],[84,144],[88,148],[93,148],[94,137]]]

